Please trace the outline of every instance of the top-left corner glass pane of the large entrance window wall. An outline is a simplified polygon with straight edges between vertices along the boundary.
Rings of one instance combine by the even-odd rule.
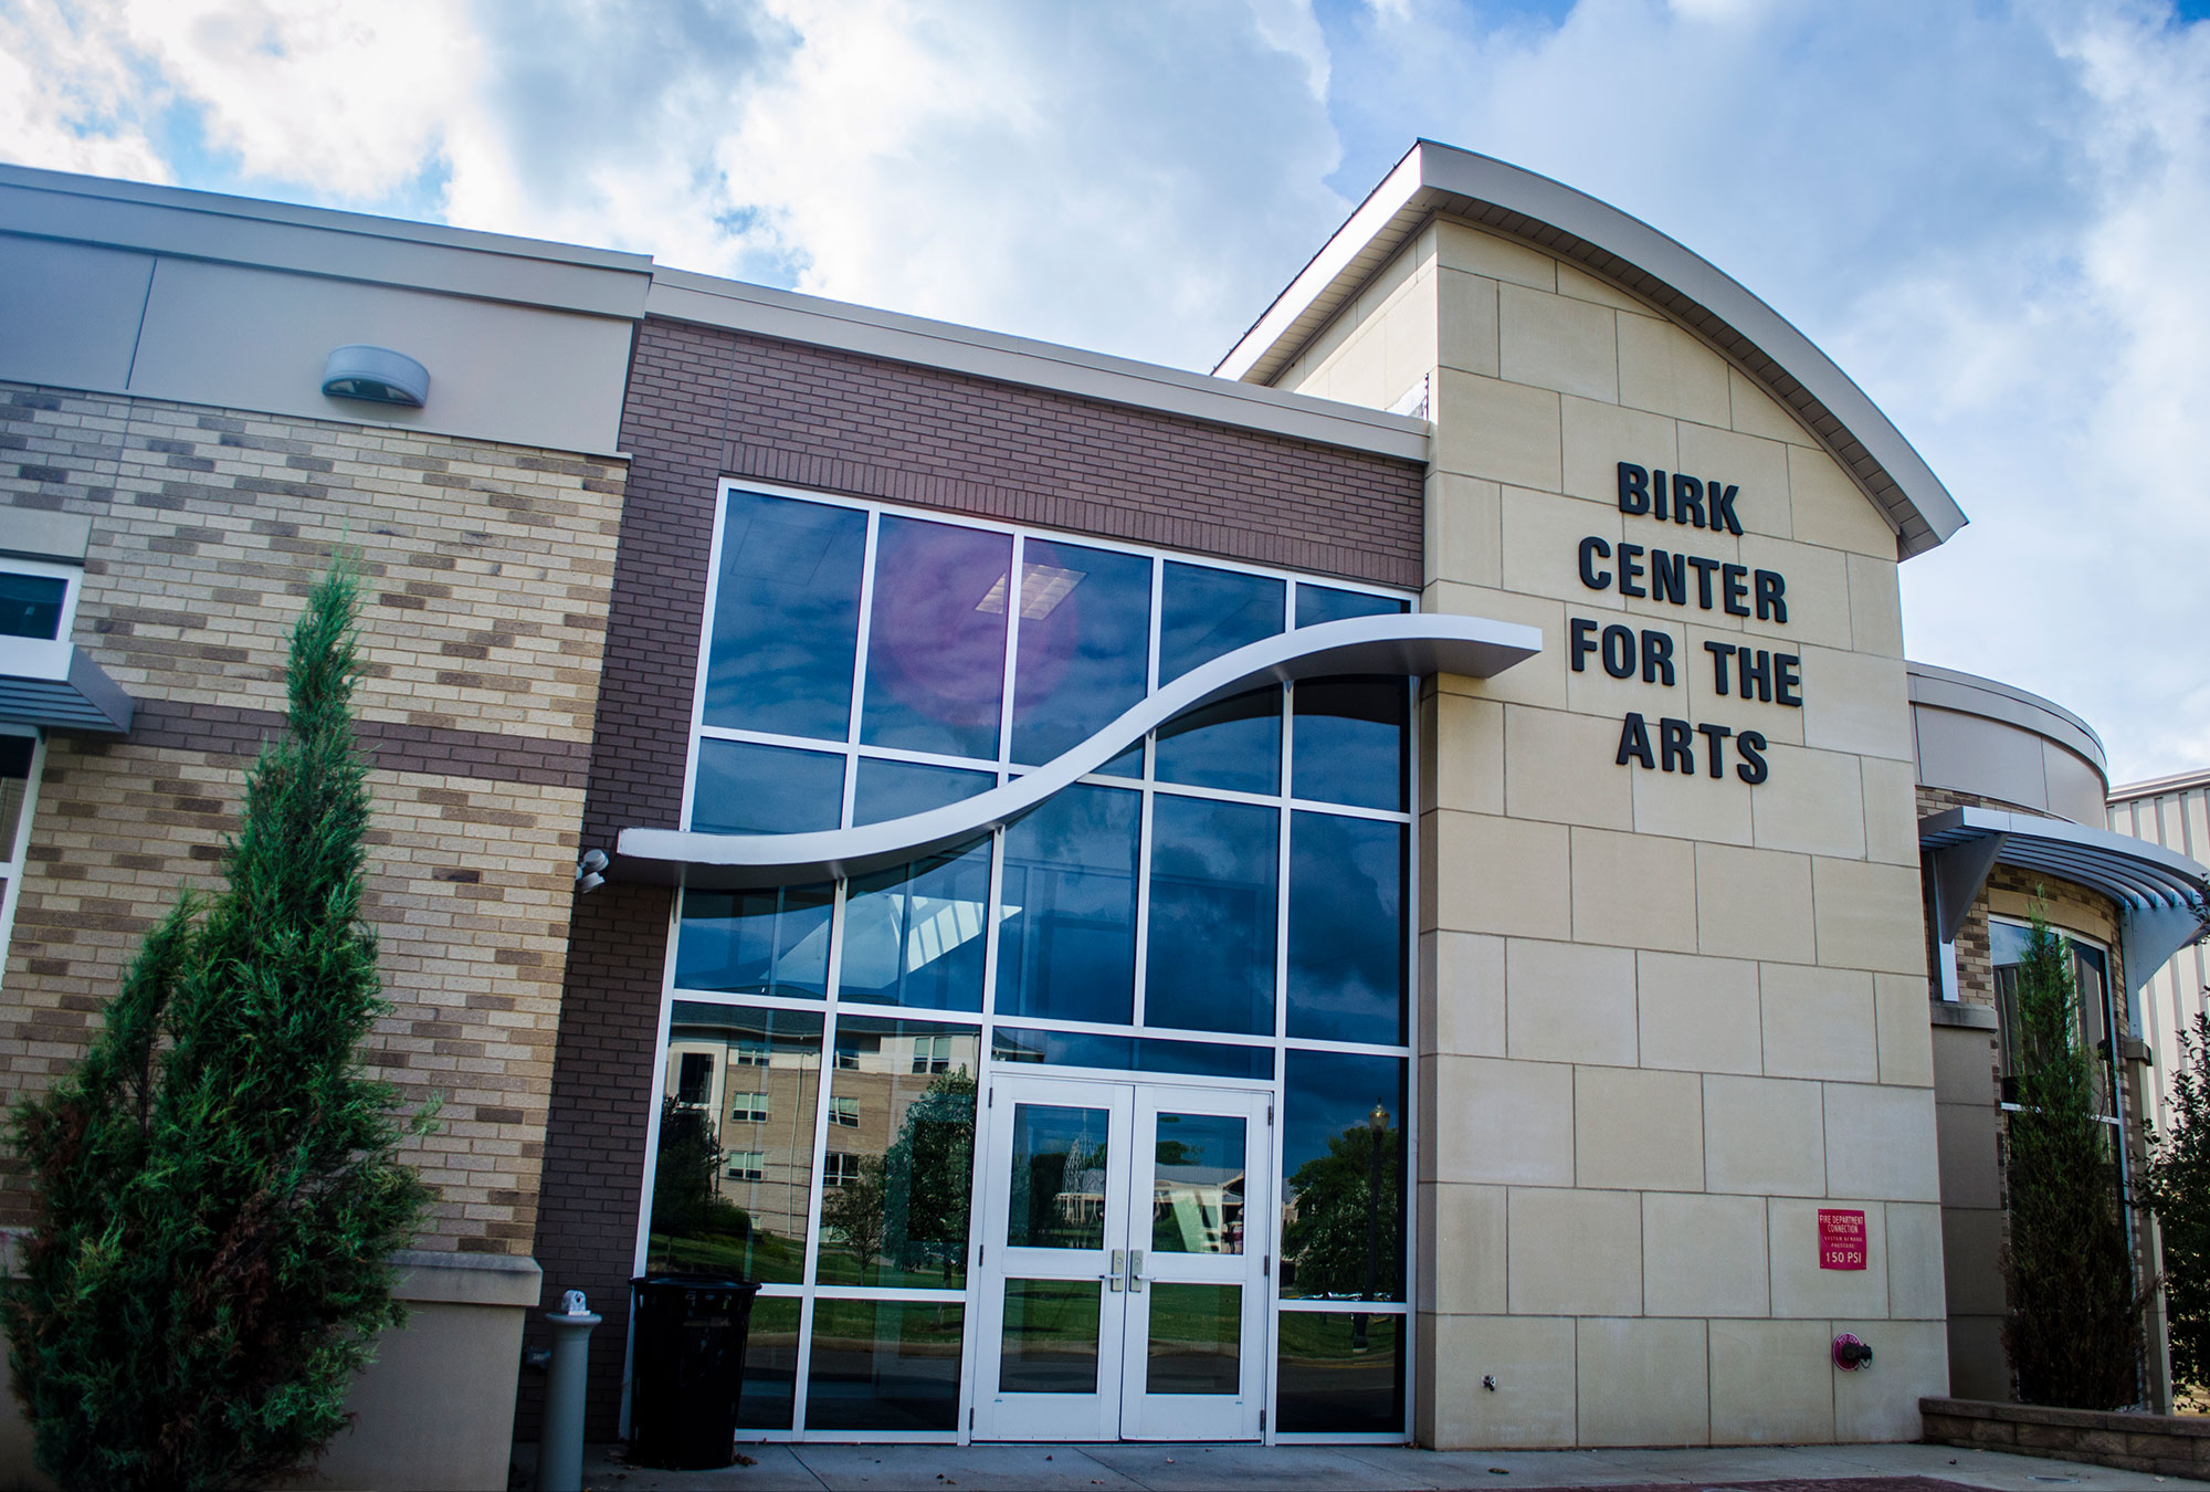
[[[842,740],[866,513],[729,493],[705,723]]]

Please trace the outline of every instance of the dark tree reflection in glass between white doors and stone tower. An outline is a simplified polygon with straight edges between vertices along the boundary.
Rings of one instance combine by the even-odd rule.
[[[1328,1154],[1288,1178],[1282,1289],[1392,1300],[1403,1280],[1401,1196],[1403,1149],[1395,1127],[1361,1123],[1333,1136]]]

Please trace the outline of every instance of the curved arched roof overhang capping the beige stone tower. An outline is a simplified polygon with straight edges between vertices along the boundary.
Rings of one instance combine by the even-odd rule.
[[[1587,192],[1432,139],[1397,161],[1213,374],[1271,385],[1436,214],[1587,265],[1702,334],[1825,442],[1896,533],[1898,557],[1925,553],[1965,526],[1949,488],[1865,391],[1733,276]]]

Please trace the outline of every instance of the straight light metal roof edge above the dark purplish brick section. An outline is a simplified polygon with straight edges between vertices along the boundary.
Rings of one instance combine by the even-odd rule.
[[[645,314],[1408,462],[1428,460],[1425,420],[692,270],[654,267]]]

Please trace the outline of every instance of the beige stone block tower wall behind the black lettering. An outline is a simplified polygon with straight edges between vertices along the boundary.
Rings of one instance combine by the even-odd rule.
[[[1419,347],[1423,603],[1545,637],[1423,707],[1419,1435],[1909,1439],[1947,1342],[1896,537],[1691,332],[1450,219],[1282,382],[1386,404]],[[1622,513],[1620,462],[1737,486],[1741,533]],[[1777,572],[1786,619],[1624,595],[1620,546]],[[1706,643],[1797,659],[1801,703],[1722,692]],[[1629,714],[1684,723],[1686,769]],[[1819,1267],[1821,1209],[1865,1213],[1867,1269]],[[1837,1331],[1881,1370],[1837,1375]]]

